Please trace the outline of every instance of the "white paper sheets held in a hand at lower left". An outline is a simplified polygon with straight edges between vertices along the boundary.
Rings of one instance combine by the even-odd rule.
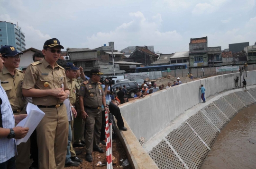
[[[44,116],[45,113],[42,110],[40,110],[36,105],[32,103],[27,104],[27,118],[24,118],[22,121],[20,121],[16,127],[28,127],[29,130],[24,138],[16,140],[17,145],[20,143],[27,142],[28,138],[36,129],[37,125],[40,123]]]

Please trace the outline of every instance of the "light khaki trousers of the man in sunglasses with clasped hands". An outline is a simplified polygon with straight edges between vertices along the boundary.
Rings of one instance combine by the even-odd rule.
[[[46,115],[37,126],[39,169],[64,169],[68,141],[66,107],[40,109]]]

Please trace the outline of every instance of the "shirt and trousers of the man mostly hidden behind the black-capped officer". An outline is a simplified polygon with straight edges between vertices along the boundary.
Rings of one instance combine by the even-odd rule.
[[[85,122],[81,117],[81,110],[79,104],[79,89],[80,84],[82,83],[82,78],[74,79],[75,82],[75,91],[76,91],[76,100],[75,100],[75,110],[77,112],[76,118],[74,118],[74,144],[79,144],[81,141],[84,142],[84,127]]]

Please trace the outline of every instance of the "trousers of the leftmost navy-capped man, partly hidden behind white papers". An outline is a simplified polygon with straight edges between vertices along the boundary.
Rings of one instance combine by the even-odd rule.
[[[19,113],[14,113],[15,115],[19,114],[27,114],[26,109],[24,108],[21,112]],[[15,123],[15,126],[17,124]],[[27,140],[26,143],[21,143],[17,145],[17,152],[18,154],[16,155],[16,169],[28,169],[30,164],[29,164],[29,156],[30,156],[30,138]]]

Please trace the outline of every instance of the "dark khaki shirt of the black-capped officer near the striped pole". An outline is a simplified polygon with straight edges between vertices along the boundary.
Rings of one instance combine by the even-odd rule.
[[[102,96],[105,95],[101,83],[93,83],[91,79],[80,86],[79,95],[83,96],[83,105],[91,108],[101,107]]]

